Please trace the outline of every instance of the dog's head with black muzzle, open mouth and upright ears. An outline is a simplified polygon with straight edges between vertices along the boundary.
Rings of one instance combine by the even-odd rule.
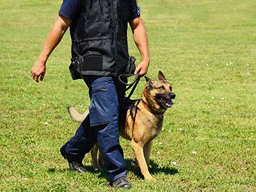
[[[166,80],[164,74],[158,72],[158,81],[145,77],[147,85],[143,91],[141,98],[148,105],[152,111],[157,113],[164,113],[166,109],[172,107],[172,99],[176,95],[172,92],[172,85]]]

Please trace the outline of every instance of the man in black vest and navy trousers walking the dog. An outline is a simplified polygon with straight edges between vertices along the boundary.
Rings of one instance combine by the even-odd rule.
[[[31,68],[33,79],[43,81],[46,61],[70,27],[70,72],[73,79],[83,77],[89,87],[91,103],[90,114],[75,136],[61,147],[61,155],[67,159],[70,170],[86,172],[82,164],[84,155],[97,142],[109,173],[109,184],[116,188],[131,188],[118,134],[118,111],[125,91],[116,81],[129,60],[128,22],[142,58],[135,73],[144,76],[149,65],[148,41],[136,0],[64,0]]]

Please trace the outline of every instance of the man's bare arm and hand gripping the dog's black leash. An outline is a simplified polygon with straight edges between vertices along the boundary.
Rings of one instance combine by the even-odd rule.
[[[132,29],[134,42],[137,45],[142,57],[141,63],[135,69],[135,74],[137,74],[140,71],[140,76],[142,77],[145,74],[147,74],[148,65],[150,61],[147,32],[141,17],[138,17],[134,20],[130,20],[129,24]]]

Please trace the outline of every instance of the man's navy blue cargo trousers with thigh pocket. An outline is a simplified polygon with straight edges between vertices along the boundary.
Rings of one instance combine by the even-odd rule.
[[[113,77],[87,76],[91,88],[90,114],[79,126],[65,150],[74,161],[83,161],[84,155],[97,142],[104,157],[110,182],[126,176],[124,153],[119,143],[118,112],[119,99],[124,97],[124,87],[113,81]]]

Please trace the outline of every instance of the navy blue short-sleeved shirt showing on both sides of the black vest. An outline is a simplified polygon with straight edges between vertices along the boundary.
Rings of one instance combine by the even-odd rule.
[[[81,10],[82,1],[83,0],[63,0],[59,14],[63,15],[67,19],[73,20]],[[140,7],[137,6],[136,0],[132,0],[129,20],[133,20],[138,17],[140,17]]]

